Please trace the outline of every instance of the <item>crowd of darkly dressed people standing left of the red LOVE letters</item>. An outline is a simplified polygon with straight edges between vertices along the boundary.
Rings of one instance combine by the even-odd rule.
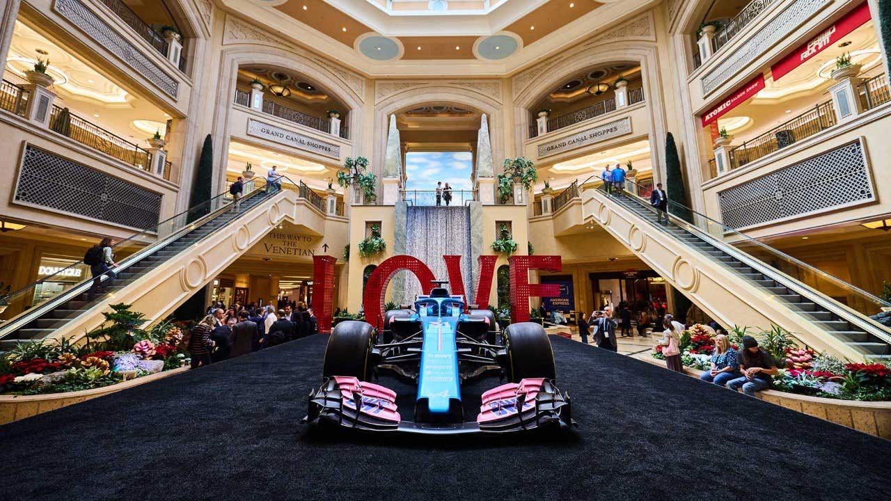
[[[287,303],[276,309],[222,302],[210,305],[207,315],[192,328],[189,353],[192,368],[226,358],[240,357],[318,332],[313,308],[304,303]]]

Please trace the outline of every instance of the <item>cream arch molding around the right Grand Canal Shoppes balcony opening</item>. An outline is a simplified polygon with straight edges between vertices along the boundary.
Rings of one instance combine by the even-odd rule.
[[[649,14],[649,12],[648,12]],[[650,15],[642,18],[652,20]],[[641,18],[638,18],[641,19]],[[623,25],[625,26],[625,25]],[[634,26],[640,27],[639,24]],[[622,28],[621,26],[619,28]],[[652,30],[650,30],[652,32]],[[608,33],[601,35],[605,37]],[[653,162],[654,176],[658,181],[663,179],[662,171],[657,166],[663,165],[665,157],[665,138],[667,132],[666,105],[664,102],[663,82],[659,72],[658,46],[655,38],[652,41],[609,42],[603,46],[605,50],[593,51],[588,43],[580,45],[571,53],[562,54],[536,66],[535,79],[526,82],[522,88],[514,87],[514,138],[518,154],[528,140],[527,131],[531,125],[529,108],[554,87],[575,75],[581,68],[591,68],[610,62],[639,62],[643,79],[643,90],[646,95],[647,110],[650,123],[650,156]],[[527,70],[528,71],[528,70]],[[516,81],[516,77],[514,78]]]

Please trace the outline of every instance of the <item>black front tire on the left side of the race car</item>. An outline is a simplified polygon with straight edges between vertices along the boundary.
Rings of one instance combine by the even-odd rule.
[[[322,375],[352,376],[369,381],[374,327],[366,322],[345,320],[334,326],[325,348]]]

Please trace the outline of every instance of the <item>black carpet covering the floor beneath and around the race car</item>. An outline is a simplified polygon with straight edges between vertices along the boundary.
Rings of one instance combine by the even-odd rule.
[[[307,431],[298,421],[326,339],[2,426],[0,499],[891,498],[889,441],[562,338],[575,431]]]

